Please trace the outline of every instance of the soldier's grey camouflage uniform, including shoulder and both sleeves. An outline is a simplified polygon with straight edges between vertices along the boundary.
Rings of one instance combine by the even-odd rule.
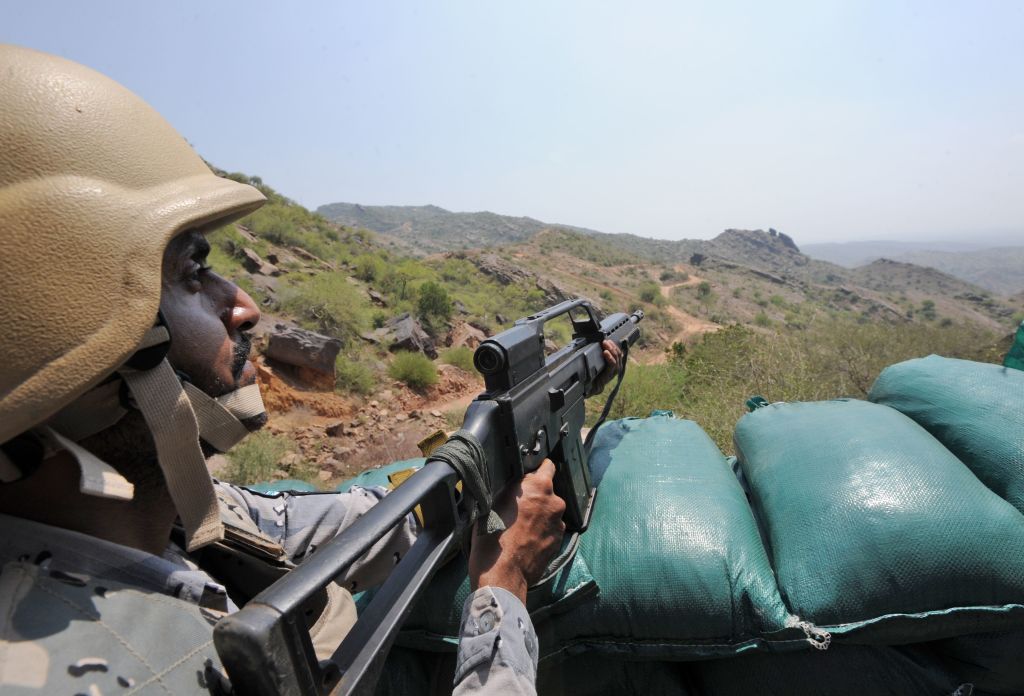
[[[286,562],[312,553],[385,493],[355,487],[348,493],[261,494],[223,483],[217,491],[233,531],[228,537],[248,534],[267,550],[276,545]],[[0,528],[0,691],[96,696],[227,690],[212,627],[236,606],[225,586],[176,546],[154,556],[2,515]],[[356,591],[379,583],[415,534],[411,517],[343,582]],[[343,601],[339,607],[336,622],[344,623]],[[537,636],[522,604],[504,590],[482,588],[463,616],[456,693],[535,693]]]

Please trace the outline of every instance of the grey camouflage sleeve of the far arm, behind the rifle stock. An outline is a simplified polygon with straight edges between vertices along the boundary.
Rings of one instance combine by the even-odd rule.
[[[259,493],[222,481],[216,484],[248,512],[260,531],[284,547],[289,559],[296,563],[334,538],[387,494],[387,489],[381,486],[352,486],[344,493]],[[353,563],[338,582],[353,593],[380,584],[413,546],[418,532],[416,517],[407,515],[401,524]]]

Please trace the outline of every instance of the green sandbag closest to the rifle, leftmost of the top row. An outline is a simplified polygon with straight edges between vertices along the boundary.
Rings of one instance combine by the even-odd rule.
[[[544,627],[542,653],[554,640],[686,659],[803,638],[785,629],[746,496],[699,426],[667,417],[607,423],[590,466],[598,494],[580,555],[600,592]]]

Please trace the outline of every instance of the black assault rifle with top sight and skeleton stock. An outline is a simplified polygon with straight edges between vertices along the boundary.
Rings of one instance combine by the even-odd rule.
[[[545,355],[544,324],[568,315],[572,340]],[[550,458],[555,490],[565,499],[566,531],[587,528],[595,489],[587,466],[592,436],[581,438],[584,399],[604,369],[601,342],[623,348],[623,366],[598,422],[622,383],[629,347],[640,336],[643,311],[599,320],[590,303],[569,300],[519,319],[480,344],[473,364],[486,391],[466,411],[463,430],[484,452],[492,492]],[[462,537],[469,521],[459,477],[440,461],[426,465],[298,568],[217,623],[214,644],[236,693],[257,696],[372,694],[384,659],[417,598]],[[330,660],[318,661],[303,604],[358,560],[417,506],[423,529],[374,595]]]

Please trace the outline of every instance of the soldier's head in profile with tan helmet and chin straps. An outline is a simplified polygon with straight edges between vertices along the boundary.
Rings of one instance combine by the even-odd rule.
[[[265,416],[259,311],[204,235],[263,202],[121,85],[0,45],[0,443],[31,433],[76,456],[82,492],[130,496],[75,443],[141,414],[189,545],[216,538],[200,434],[225,449]]]

